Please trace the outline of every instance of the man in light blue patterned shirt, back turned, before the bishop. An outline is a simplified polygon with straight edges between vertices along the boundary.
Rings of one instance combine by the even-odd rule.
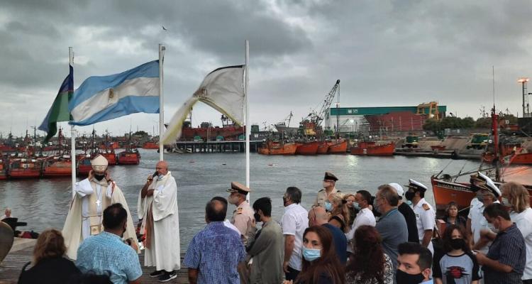
[[[109,275],[114,284],[140,283],[143,272],[136,249],[122,241],[127,219],[128,212],[120,203],[104,210],[104,231],[79,245],[76,261],[79,271]]]

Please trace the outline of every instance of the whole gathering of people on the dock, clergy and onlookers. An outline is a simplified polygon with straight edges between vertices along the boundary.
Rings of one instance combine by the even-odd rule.
[[[139,242],[126,235],[127,204],[111,200],[121,199],[113,197],[116,185],[96,169],[106,182],[97,180],[95,172],[88,182],[96,180],[96,185],[87,183],[86,195],[79,197],[80,204],[89,205],[75,213],[80,228],[71,257],[75,265],[62,257],[74,249],[63,239],[65,230],[48,230],[39,236],[33,266],[23,268],[20,283],[36,283],[31,279],[43,275],[55,277],[53,283],[97,277],[140,283],[138,244],[145,248],[145,265],[155,266],[150,277],[160,282],[176,277],[177,185],[167,164],[157,163],[140,191]],[[272,219],[270,197],[250,204],[251,190],[232,182],[227,198],[206,202],[206,226],[194,235],[182,263],[189,283],[532,283],[532,209],[522,185],[506,182],[499,189],[486,175],[472,175],[476,197],[467,219],[450,202],[445,217],[437,220],[424,198],[428,188],[416,180],[404,187],[381,185],[375,196],[368,190],[344,194],[336,182],[326,172],[323,190],[308,209],[301,206],[301,190],[287,187],[279,222]],[[102,197],[109,199],[106,207],[97,202]],[[229,204],[235,206],[231,217]],[[53,273],[58,270],[62,275]]]

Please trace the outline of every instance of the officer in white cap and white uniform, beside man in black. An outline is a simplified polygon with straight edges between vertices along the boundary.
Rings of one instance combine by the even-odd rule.
[[[406,200],[412,202],[412,209],[416,214],[416,225],[418,227],[419,243],[425,246],[431,253],[434,253],[432,245],[432,232],[436,224],[436,212],[431,204],[425,200],[427,187],[416,180],[409,180],[409,190],[405,192]]]

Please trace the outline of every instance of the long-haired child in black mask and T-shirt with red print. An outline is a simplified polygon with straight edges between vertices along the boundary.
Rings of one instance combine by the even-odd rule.
[[[477,284],[479,266],[471,253],[463,226],[450,225],[443,232],[445,254],[433,260],[434,283]]]

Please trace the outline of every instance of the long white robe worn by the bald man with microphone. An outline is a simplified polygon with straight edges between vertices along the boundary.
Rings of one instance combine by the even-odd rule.
[[[155,266],[157,271],[174,271],[181,268],[181,251],[179,246],[179,212],[177,209],[177,183],[172,173],[168,172],[161,180],[155,179],[149,188],[153,196],[142,198],[139,194],[139,218],[143,224],[150,222],[150,208],[153,215],[153,230],[144,251],[145,266]],[[142,211],[141,211],[142,210]],[[142,212],[142,213],[141,213]],[[149,246],[149,247],[148,247]]]

